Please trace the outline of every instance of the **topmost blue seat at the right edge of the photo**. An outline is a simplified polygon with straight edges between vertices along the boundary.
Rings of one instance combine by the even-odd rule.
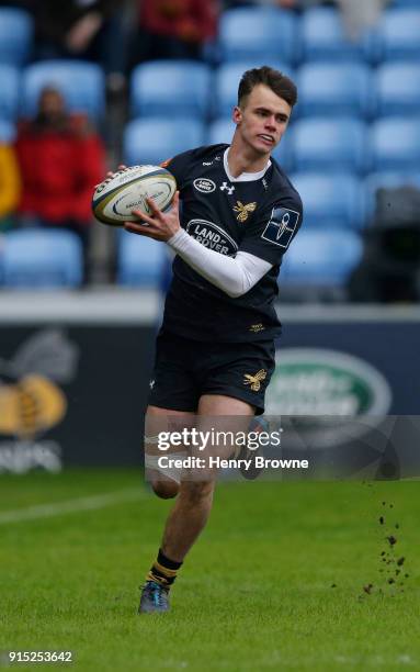
[[[420,9],[388,9],[377,32],[384,60],[419,60]]]

